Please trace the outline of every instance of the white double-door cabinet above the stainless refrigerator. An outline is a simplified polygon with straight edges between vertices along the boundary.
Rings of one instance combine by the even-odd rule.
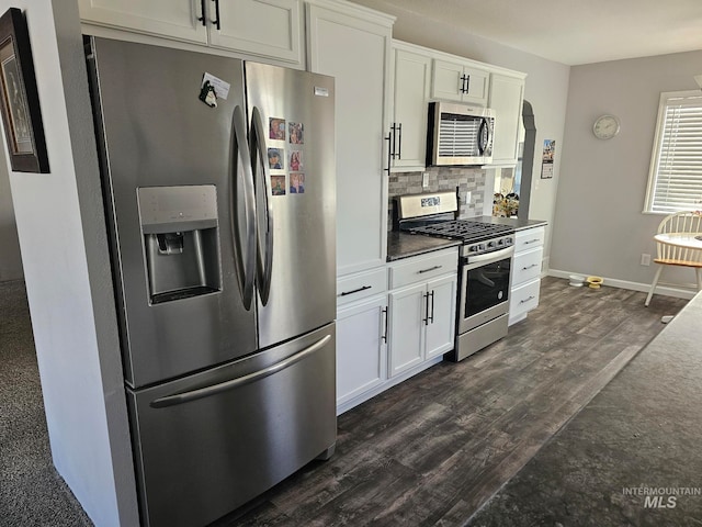
[[[302,64],[301,0],[78,0],[83,23]]]

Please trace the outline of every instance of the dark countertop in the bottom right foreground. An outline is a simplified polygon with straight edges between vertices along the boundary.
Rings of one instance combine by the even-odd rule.
[[[701,525],[701,319],[699,293],[468,525]]]

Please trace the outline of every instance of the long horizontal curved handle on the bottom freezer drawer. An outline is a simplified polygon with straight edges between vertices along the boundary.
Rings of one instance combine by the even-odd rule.
[[[286,359],[281,360],[280,362],[275,362],[274,365],[269,366],[259,371],[254,371],[252,373],[247,373],[246,375],[237,377],[235,379],[230,379],[228,381],[219,382],[217,384],[212,384],[210,386],[203,386],[195,390],[190,390],[181,393],[173,393],[171,395],[165,395],[162,397],[155,399],[151,401],[149,406],[152,408],[166,408],[169,406],[176,406],[178,404],[190,403],[192,401],[196,401],[203,397],[210,397],[212,395],[216,395],[222,392],[226,392],[228,390],[234,390],[235,388],[240,388],[245,384],[250,384],[256,381],[260,381],[261,379],[265,379],[267,377],[272,375],[273,373],[278,373],[285,368],[290,368],[296,362],[309,357],[316,351],[324,348],[331,340],[331,335],[325,335],[315,344],[306,347],[305,349],[298,351],[297,354],[287,357]]]

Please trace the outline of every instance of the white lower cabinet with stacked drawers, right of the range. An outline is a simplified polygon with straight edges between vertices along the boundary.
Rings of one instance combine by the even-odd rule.
[[[514,233],[512,285],[509,293],[510,325],[524,319],[531,310],[539,306],[545,228],[540,226]]]

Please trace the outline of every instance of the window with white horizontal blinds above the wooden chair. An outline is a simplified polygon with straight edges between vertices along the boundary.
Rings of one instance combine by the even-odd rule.
[[[702,91],[660,94],[644,212],[702,209]]]

